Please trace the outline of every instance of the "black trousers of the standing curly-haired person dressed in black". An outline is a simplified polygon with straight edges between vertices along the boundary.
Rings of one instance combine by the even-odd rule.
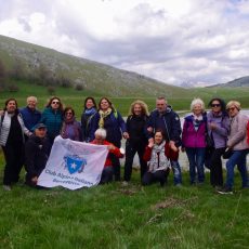
[[[144,150],[146,144],[132,144],[127,142],[126,144],[126,162],[124,162],[124,175],[123,180],[129,182],[131,180],[132,165],[135,154],[137,153],[140,158],[140,173],[141,180],[143,179],[144,173],[147,171],[147,162],[144,161]]]

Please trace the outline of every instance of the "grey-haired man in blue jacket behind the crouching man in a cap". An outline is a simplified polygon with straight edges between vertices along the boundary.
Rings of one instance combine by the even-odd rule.
[[[41,119],[41,112],[37,109],[37,103],[36,96],[28,96],[27,106],[19,110],[24,124],[29,131],[31,131]]]

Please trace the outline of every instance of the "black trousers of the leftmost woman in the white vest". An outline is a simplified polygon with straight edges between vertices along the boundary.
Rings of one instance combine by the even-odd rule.
[[[24,165],[24,144],[6,143],[5,146],[2,146],[2,150],[5,158],[3,184],[11,185],[19,180],[19,172]]]

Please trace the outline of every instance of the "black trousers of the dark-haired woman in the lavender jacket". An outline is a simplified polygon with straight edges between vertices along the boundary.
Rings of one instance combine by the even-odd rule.
[[[225,148],[215,148],[210,158],[210,183],[212,186],[223,185],[223,171],[221,156]]]

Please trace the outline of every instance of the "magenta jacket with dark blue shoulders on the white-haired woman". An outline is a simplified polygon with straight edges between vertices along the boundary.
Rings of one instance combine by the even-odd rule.
[[[182,143],[183,147],[192,148],[204,148],[206,147],[206,122],[207,118],[204,116],[204,120],[200,121],[199,127],[195,130],[194,127],[194,116],[189,115],[185,117],[183,123]]]

